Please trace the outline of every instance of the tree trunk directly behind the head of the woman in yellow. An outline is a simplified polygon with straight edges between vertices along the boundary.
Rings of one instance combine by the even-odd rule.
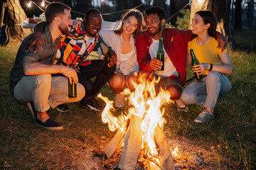
[[[193,0],[191,4],[191,22],[196,11],[200,11],[200,10],[213,11],[218,21],[217,30],[228,39],[228,42],[230,42],[232,49],[235,49],[236,44],[233,39],[233,33],[229,23],[230,4],[231,4],[231,0],[225,0],[225,1]],[[191,29],[191,24],[189,28]]]

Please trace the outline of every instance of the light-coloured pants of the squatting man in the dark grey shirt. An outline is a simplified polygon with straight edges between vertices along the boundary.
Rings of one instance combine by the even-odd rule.
[[[77,97],[68,98],[68,77],[42,74],[24,76],[14,88],[14,98],[22,102],[33,101],[38,112],[45,112],[63,103],[80,101],[85,96],[85,88],[77,84]]]

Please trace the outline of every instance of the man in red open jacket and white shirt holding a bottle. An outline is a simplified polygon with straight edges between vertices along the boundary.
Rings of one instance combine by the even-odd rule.
[[[138,80],[160,78],[156,91],[161,87],[169,91],[171,99],[178,99],[181,96],[181,86],[186,83],[187,44],[193,37],[192,31],[164,28],[165,11],[159,6],[147,8],[144,16],[146,31],[137,35],[135,44],[141,69]],[[162,66],[162,62],[156,59],[160,39],[164,46],[164,71],[157,71]],[[218,39],[221,44],[227,44],[225,37],[220,33]]]

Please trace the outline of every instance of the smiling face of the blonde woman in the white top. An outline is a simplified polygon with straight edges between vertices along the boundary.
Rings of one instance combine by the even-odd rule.
[[[129,16],[126,20],[124,20],[123,33],[131,35],[135,30],[137,30],[137,27],[137,18],[135,16]]]

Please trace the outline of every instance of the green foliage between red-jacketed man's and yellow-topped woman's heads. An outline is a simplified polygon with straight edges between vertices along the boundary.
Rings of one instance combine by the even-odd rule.
[[[187,30],[189,26],[191,11],[190,9],[183,9],[181,10],[181,14],[183,14],[183,17],[177,17],[177,28],[180,30]]]

